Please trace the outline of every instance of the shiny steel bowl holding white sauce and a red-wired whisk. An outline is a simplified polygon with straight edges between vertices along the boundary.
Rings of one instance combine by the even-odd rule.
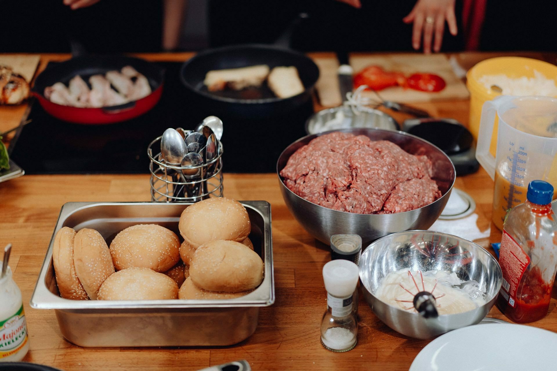
[[[418,339],[479,323],[495,304],[502,282],[499,263],[485,249],[457,236],[434,231],[404,231],[385,236],[365,249],[359,268],[361,291],[375,315],[393,330]],[[424,318],[375,298],[380,281],[400,269],[444,270],[456,273],[464,281],[477,281],[484,285],[485,304],[463,313]]]

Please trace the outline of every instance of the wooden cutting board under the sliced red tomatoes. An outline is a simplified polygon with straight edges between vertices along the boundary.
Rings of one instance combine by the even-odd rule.
[[[410,76],[413,73],[434,73],[441,76],[447,86],[440,92],[429,93],[402,87],[389,87],[380,91],[384,100],[400,103],[433,102],[450,99],[467,99],[470,95],[466,85],[452,70],[447,57],[442,54],[419,55],[419,54],[393,54],[378,56],[350,57],[350,65],[354,68],[354,74],[368,66],[380,66],[386,71],[398,71]],[[365,95],[377,98],[373,92],[365,92]]]

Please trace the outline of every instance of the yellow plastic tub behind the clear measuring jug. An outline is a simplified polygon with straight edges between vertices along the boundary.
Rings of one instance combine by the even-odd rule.
[[[478,63],[470,68],[466,74],[466,86],[470,91],[470,121],[468,128],[477,141],[480,131],[480,118],[482,116],[483,103],[490,101],[500,94],[491,88],[486,88],[478,82],[484,75],[504,74],[510,78],[522,76],[534,77],[534,70],[542,73],[546,78],[555,80],[557,85],[557,66],[550,63],[523,57],[497,57]],[[497,118],[496,118],[497,120]],[[491,136],[490,153],[495,157],[497,150],[497,122]]]

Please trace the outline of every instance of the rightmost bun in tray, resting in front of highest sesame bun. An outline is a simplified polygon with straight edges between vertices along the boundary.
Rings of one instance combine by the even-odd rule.
[[[255,289],[263,280],[263,261],[253,250],[234,241],[211,241],[199,246],[189,265],[199,288],[237,293]]]

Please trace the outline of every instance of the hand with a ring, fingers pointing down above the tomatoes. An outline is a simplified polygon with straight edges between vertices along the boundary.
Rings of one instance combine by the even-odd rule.
[[[412,12],[402,19],[404,23],[414,22],[412,31],[412,46],[418,50],[422,38],[423,29],[423,52],[431,53],[431,40],[435,31],[435,42],[433,51],[441,50],[445,21],[453,36],[457,34],[455,17],[455,0],[418,0]]]

